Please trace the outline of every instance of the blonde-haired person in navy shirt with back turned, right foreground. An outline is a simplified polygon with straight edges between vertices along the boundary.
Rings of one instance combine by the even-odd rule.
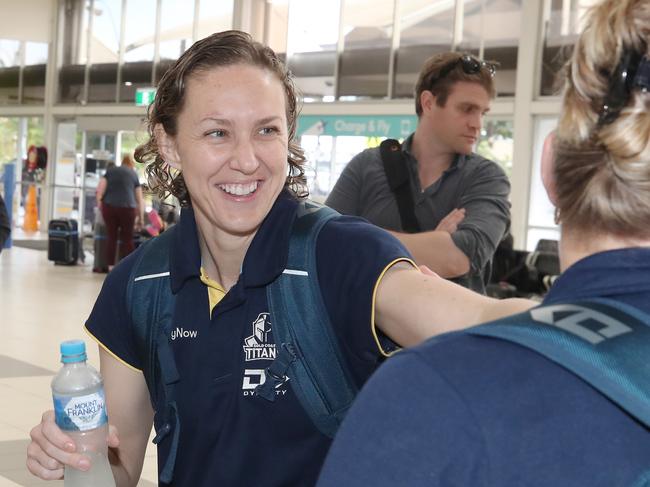
[[[650,326],[650,3],[601,1],[584,22],[542,161],[563,270],[544,304],[631,306],[646,314],[630,335],[638,341]],[[570,324],[557,326],[576,337],[613,337],[612,322],[630,330],[568,309]],[[643,354],[630,336],[627,356]],[[648,391],[629,379],[620,383],[647,409]],[[449,334],[400,352],[368,381],[318,487],[641,487],[649,466],[647,424],[569,369],[513,342]]]

